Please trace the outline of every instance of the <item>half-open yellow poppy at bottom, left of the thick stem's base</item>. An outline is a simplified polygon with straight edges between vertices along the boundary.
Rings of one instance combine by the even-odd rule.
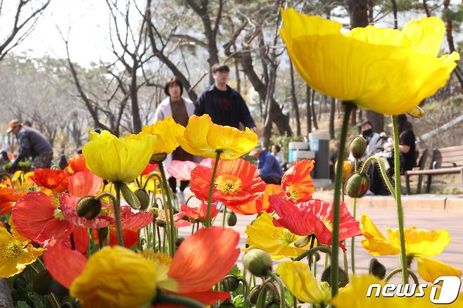
[[[286,261],[278,264],[277,274],[286,288],[303,302],[310,304],[327,303],[331,299],[329,288],[322,288],[312,275],[307,264]]]

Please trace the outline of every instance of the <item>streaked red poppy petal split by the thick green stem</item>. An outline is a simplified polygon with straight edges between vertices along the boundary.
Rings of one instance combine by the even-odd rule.
[[[333,229],[333,203],[312,199],[299,205],[302,209],[315,214],[325,224],[329,231]],[[359,222],[350,214],[343,201],[340,204],[339,241],[353,236],[361,236]]]

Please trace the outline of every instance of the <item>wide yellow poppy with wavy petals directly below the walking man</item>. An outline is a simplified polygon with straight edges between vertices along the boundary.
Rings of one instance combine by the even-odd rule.
[[[216,158],[221,151],[221,160],[234,160],[249,153],[258,143],[258,135],[246,127],[240,131],[234,127],[214,124],[209,115],[190,117],[183,136],[177,141],[186,152],[205,158]]]

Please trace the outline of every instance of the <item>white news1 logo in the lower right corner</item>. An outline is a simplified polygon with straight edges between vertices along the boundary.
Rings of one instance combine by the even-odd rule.
[[[437,283],[442,283],[440,287],[440,294],[437,295],[438,286]],[[458,297],[459,288],[462,285],[462,281],[457,276],[440,276],[436,278],[431,287],[431,293],[429,294],[429,300],[433,304],[451,304],[455,302]],[[373,283],[369,285],[367,290],[367,297],[424,297],[424,289],[428,288],[428,284],[409,284],[404,285],[393,283],[387,283],[381,286],[379,283]],[[375,292],[373,293],[373,290]],[[438,298],[436,298],[438,297]]]

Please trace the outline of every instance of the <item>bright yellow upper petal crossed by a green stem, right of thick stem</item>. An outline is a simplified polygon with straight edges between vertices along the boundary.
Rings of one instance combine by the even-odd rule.
[[[391,231],[388,228],[386,230],[389,240],[395,246],[400,247],[399,230]],[[429,231],[411,227],[406,228],[404,231],[407,255],[433,257],[443,252],[444,248],[450,243],[450,234],[445,230]]]

